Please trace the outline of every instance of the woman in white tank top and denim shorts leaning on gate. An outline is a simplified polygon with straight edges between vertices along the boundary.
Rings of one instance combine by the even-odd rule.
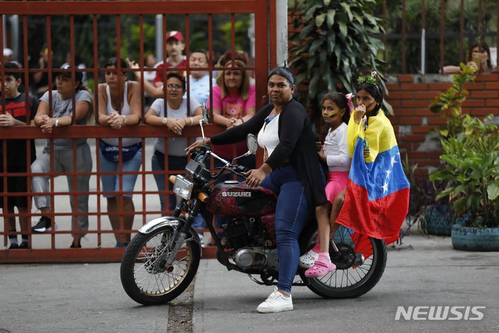
[[[121,69],[127,68],[125,60],[110,58],[105,65],[105,83],[98,85],[98,123],[120,130],[123,126],[137,125],[141,120],[141,93],[138,82],[127,80],[125,72],[118,72],[118,61]],[[121,150],[121,171],[139,171],[142,163],[142,142],[140,137],[125,137],[100,139],[100,171],[117,173],[119,171],[119,151]],[[115,194],[112,192],[132,192],[137,181],[137,174],[124,174],[121,179],[118,174],[101,175],[107,198],[107,212],[113,230],[120,230],[119,212],[134,212],[132,194]],[[123,230],[131,230],[134,215],[123,216]],[[130,233],[115,233],[116,247],[126,247],[130,243]]]

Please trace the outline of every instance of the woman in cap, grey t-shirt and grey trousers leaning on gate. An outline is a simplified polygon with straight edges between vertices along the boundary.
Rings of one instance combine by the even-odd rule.
[[[69,69],[64,66],[63,69]],[[87,87],[82,83],[82,73],[76,72],[75,83],[71,79],[71,72],[64,71],[58,74],[55,79],[57,90],[46,92],[40,99],[37,114],[35,116],[35,125],[40,127],[43,133],[57,134],[57,128],[70,126],[73,123],[73,117],[78,125],[87,125],[89,115],[92,110],[92,97],[87,91]],[[52,94],[52,101],[49,99]],[[74,105],[73,105],[74,97]],[[74,108],[73,108],[74,106]],[[75,114],[73,114],[73,110]],[[77,172],[91,171],[92,161],[90,147],[87,139],[76,139],[76,170]],[[53,158],[53,172],[68,173],[69,191],[78,191],[88,193],[90,175],[76,176],[76,189],[73,189],[73,178],[70,173],[73,172],[73,139],[53,139],[53,151],[50,149],[50,141],[47,139],[42,155],[37,157],[31,164],[32,173],[49,173],[51,171],[51,157]],[[33,226],[33,232],[45,232],[51,228],[57,228],[51,221],[51,198],[46,193],[50,191],[49,177],[35,176],[32,179],[33,198],[36,207],[42,212],[40,221]],[[42,194],[42,195],[37,195]],[[78,197],[78,213],[88,212],[88,194],[80,194]],[[69,196],[71,209],[73,209],[73,196]],[[88,230],[88,216],[79,215],[78,230]],[[71,229],[74,229],[75,223],[71,223]],[[80,248],[80,239],[85,234],[78,234],[78,242],[73,242],[71,248]]]

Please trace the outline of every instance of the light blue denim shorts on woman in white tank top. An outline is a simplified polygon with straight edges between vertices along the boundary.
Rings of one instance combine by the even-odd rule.
[[[142,149],[132,157],[132,160],[123,163],[123,171],[139,171],[142,164]],[[106,160],[103,153],[100,153],[100,171],[101,172],[117,172],[119,164]],[[122,191],[133,191],[135,182],[137,181],[137,174],[123,175],[123,188]],[[102,191],[119,191],[119,176],[118,175],[100,175],[102,181]],[[114,198],[115,194],[104,194],[105,198]],[[132,194],[123,194],[131,198]]]

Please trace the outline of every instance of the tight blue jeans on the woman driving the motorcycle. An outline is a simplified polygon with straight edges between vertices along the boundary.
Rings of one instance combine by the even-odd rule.
[[[299,260],[298,237],[313,213],[305,189],[289,164],[272,171],[261,183],[277,194],[275,232],[279,257],[277,288],[291,291]]]

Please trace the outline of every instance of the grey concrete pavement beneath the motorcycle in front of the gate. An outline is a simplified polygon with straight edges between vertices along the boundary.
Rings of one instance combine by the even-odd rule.
[[[279,314],[256,312],[272,287],[228,272],[215,259],[202,260],[195,279],[193,332],[498,332],[497,253],[457,251],[448,237],[418,234],[405,237],[403,246],[412,249],[390,249],[383,277],[364,296],[324,300],[295,287],[295,309]],[[177,325],[170,333],[191,332],[189,316],[170,311],[182,311],[177,300],[138,305],[121,287],[119,263],[0,265],[0,332],[168,332],[172,319],[186,329]],[[482,321],[395,320],[398,306],[432,305],[486,309]],[[172,313],[179,318],[169,318]]]

